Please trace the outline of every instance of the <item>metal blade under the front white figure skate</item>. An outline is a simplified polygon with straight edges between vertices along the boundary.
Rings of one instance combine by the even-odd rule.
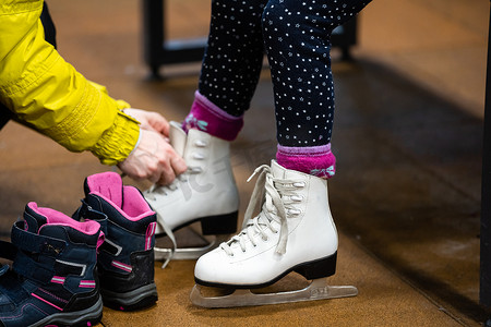
[[[203,296],[200,284],[195,284],[190,299],[194,305],[215,307],[255,306],[266,304],[294,303],[302,301],[326,300],[356,296],[354,286],[328,286],[325,278],[314,279],[304,289],[277,293],[253,293],[248,289],[237,289],[224,296]]]

